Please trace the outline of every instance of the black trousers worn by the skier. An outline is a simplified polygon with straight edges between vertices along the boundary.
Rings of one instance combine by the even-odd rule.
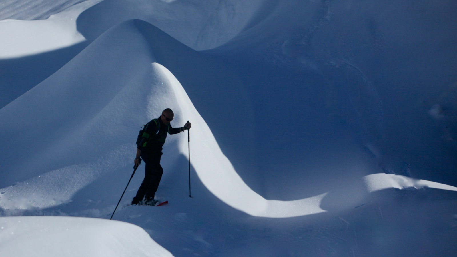
[[[146,201],[154,199],[155,192],[157,191],[157,187],[159,187],[160,179],[164,173],[162,166],[160,166],[162,152],[141,153],[140,156],[145,164],[144,179],[140,188],[138,188],[137,195],[132,200],[132,204],[137,204],[143,200],[143,197]]]

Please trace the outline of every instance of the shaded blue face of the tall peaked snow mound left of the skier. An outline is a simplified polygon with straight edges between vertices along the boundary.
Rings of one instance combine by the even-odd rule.
[[[34,206],[45,208],[68,200],[113,167],[131,166],[135,131],[148,119],[138,110],[157,81],[138,30],[122,24],[114,31],[0,110],[1,145],[8,149],[0,157],[2,183],[33,178],[7,193],[22,188],[17,198],[34,193],[40,199]],[[8,161],[14,155],[21,156],[19,163]]]

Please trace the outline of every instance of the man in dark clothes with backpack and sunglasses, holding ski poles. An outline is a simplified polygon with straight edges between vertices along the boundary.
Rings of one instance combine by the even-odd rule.
[[[173,111],[170,108],[166,108],[159,118],[152,119],[144,129],[144,133],[138,143],[137,157],[134,162],[135,167],[138,167],[141,160],[144,161],[146,165],[144,168],[145,174],[137,195],[132,200],[132,204],[155,205],[158,202],[154,200],[154,195],[164,172],[162,166],[160,166],[160,157],[162,156],[162,146],[165,143],[167,133],[170,135],[177,134],[191,128],[190,122],[187,122],[181,128],[171,128],[170,121],[173,116]]]

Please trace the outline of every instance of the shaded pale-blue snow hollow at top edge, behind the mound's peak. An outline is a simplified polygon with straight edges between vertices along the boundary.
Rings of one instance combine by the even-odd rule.
[[[94,40],[110,27],[130,19],[147,21],[181,43],[210,49],[244,30],[265,0],[104,0],[78,18],[78,29]]]

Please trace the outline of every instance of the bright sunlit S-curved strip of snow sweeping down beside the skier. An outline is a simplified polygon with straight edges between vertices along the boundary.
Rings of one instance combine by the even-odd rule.
[[[203,184],[224,203],[242,210],[247,214],[260,217],[295,217],[324,212],[319,208],[319,201],[325,193],[315,197],[296,201],[266,200],[255,193],[243,182],[230,161],[223,155],[216,139],[178,80],[159,64],[153,64],[159,74],[164,76],[165,85],[172,88],[176,103],[180,104],[180,117],[188,117],[194,124],[192,128],[192,152],[197,154],[191,158],[191,164],[197,171]],[[187,155],[187,140],[181,137],[179,148]]]

